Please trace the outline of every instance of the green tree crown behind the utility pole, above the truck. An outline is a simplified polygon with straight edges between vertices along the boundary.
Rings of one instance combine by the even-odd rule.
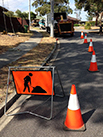
[[[32,6],[36,8],[35,12],[44,16],[50,13],[50,1],[48,0],[35,0]],[[72,9],[69,7],[69,0],[54,0],[54,12],[67,12],[72,13]]]

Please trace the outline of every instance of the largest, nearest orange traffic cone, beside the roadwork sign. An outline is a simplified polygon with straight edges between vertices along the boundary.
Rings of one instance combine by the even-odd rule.
[[[81,110],[76,94],[76,87],[73,84],[68,103],[67,115],[64,122],[64,130],[84,131],[85,125],[82,120]]]

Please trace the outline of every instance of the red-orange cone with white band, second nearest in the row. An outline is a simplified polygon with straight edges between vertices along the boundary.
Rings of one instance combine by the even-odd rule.
[[[91,63],[90,63],[90,67],[89,67],[88,71],[91,71],[91,72],[99,71],[98,67],[97,67],[96,55],[95,55],[94,50],[92,53]]]

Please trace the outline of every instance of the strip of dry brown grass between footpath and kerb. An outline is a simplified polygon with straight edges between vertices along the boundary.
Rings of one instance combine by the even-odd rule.
[[[51,53],[55,46],[55,38],[48,37],[47,33],[43,33],[43,37],[41,42],[29,51],[27,54],[23,55],[17,61],[9,64],[0,69],[0,103],[5,100],[6,97],[6,89],[7,89],[7,78],[8,78],[8,67],[9,66],[38,66],[43,63],[46,57]],[[15,46],[15,45],[14,45]],[[14,83],[12,81],[12,76],[10,76],[9,82],[9,94],[15,92]]]

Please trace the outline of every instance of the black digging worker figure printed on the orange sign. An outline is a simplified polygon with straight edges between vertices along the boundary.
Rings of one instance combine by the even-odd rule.
[[[31,77],[33,76],[32,73],[29,73],[29,75],[27,75],[25,78],[24,78],[24,90],[23,92],[25,92],[26,88],[28,88],[28,92],[30,92],[30,85],[31,85]],[[29,85],[30,83],[30,85]]]

